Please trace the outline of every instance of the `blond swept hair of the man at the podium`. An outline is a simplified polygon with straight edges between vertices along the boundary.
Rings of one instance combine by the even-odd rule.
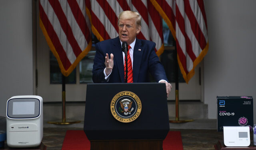
[[[134,11],[130,11],[130,10],[126,10],[126,11],[123,11],[121,12],[119,15],[118,15],[118,22],[117,22],[117,25],[119,25],[119,20],[120,19],[135,19],[135,22],[137,24],[137,26],[141,26],[141,16],[138,12],[134,12]]]

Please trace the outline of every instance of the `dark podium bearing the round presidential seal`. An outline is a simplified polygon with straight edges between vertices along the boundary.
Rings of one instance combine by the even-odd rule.
[[[132,122],[118,121],[119,116],[112,115],[114,109],[110,111],[112,100],[123,91],[136,94],[141,102],[140,115]],[[162,150],[169,130],[165,84],[87,84],[84,132],[91,150]]]

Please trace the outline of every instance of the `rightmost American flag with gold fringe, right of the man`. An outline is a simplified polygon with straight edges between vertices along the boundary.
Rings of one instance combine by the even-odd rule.
[[[150,1],[164,18],[176,40],[178,64],[184,80],[188,83],[209,47],[204,1]]]

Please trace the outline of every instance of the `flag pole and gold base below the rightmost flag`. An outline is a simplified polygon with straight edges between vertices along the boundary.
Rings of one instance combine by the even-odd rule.
[[[191,122],[193,119],[180,119],[179,116],[179,70],[178,70],[178,53],[177,47],[174,42],[174,71],[175,71],[175,118],[169,119],[171,123],[183,123],[183,122]]]

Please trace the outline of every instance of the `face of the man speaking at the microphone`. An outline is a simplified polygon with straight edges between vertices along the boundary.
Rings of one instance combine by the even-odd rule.
[[[140,33],[140,26],[137,26],[135,19],[120,19],[119,24],[119,38],[122,42],[126,41],[130,45]]]

